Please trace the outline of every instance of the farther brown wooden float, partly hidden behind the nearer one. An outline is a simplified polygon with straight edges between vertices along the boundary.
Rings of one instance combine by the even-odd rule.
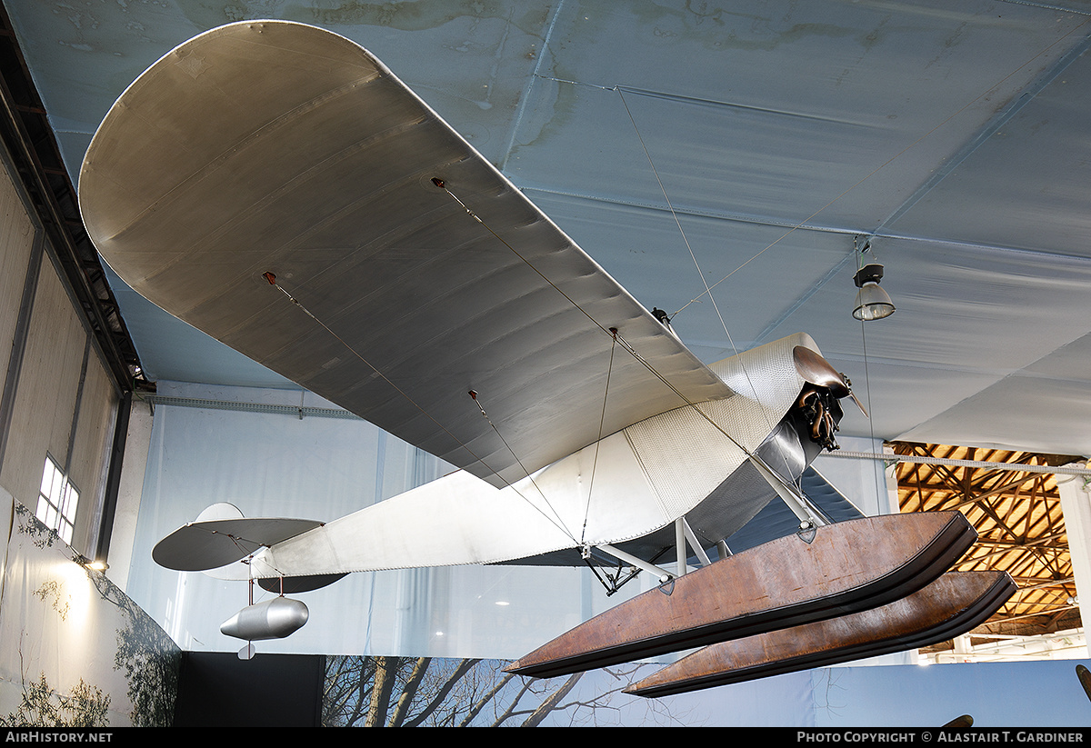
[[[1004,571],[946,574],[882,607],[706,647],[625,691],[671,696],[927,647],[980,626],[1016,589]]]

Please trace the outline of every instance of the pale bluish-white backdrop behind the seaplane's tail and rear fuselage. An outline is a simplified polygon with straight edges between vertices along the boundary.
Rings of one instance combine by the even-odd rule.
[[[452,469],[364,421],[337,417],[334,406],[299,390],[159,383],[157,400],[128,590],[188,650],[233,651],[244,643],[219,632],[247,604],[244,582],[171,571],[151,557],[156,542],[202,509],[228,502],[248,517],[327,521]],[[634,580],[607,598],[587,569],[466,566],[355,574],[292,595],[310,608],[308,624],[287,639],[256,647],[259,652],[516,659],[643,591],[642,583],[650,580]],[[254,589],[254,602],[273,596]]]

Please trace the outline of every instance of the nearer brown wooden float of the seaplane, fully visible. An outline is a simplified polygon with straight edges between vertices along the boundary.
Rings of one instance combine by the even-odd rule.
[[[781,538],[637,595],[506,669],[567,675],[877,607],[935,580],[976,538],[957,511],[829,524],[811,543]]]

